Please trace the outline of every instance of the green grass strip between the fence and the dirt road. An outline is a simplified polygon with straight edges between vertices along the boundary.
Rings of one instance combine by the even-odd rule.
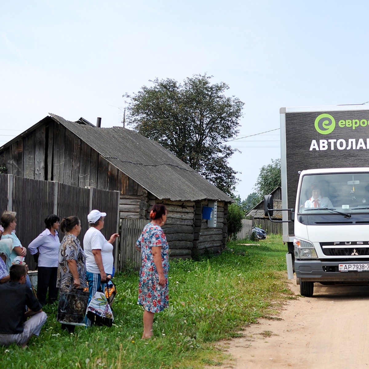
[[[252,245],[230,242],[221,255],[199,261],[172,262],[169,308],[156,314],[150,340],[141,339],[138,273],[122,273],[115,277],[113,327],[77,327],[69,335],[55,320],[56,304],[46,306],[40,336],[25,350],[0,347],[0,368],[216,367],[225,357],[216,341],[238,337],[242,327],[273,317],[293,298],[285,253],[281,237],[272,235]]]

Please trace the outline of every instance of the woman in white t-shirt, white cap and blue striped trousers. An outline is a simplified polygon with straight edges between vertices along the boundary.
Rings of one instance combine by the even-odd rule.
[[[105,289],[105,283],[111,279],[113,274],[113,243],[119,237],[118,233],[113,233],[109,240],[106,240],[101,230],[104,228],[104,218],[106,213],[99,210],[92,210],[87,215],[90,228],[83,237],[83,251],[86,256],[87,282],[89,283],[89,303],[92,296],[99,289]],[[91,321],[87,318],[87,326]]]

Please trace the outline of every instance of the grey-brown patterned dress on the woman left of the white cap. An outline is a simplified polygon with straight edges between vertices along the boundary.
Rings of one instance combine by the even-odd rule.
[[[81,248],[78,238],[68,232],[66,232],[59,246],[58,279],[56,281],[56,287],[59,287],[63,290],[71,290],[73,288],[73,275],[69,270],[67,260],[76,261],[79,281],[81,283],[79,288],[86,288],[87,280],[85,254]]]

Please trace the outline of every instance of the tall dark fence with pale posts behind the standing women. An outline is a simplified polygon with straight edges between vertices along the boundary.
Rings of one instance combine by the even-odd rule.
[[[25,247],[45,229],[44,219],[53,213],[61,219],[71,215],[80,218],[82,231],[79,239],[82,246],[83,235],[89,227],[87,214],[92,209],[107,213],[102,230],[107,239],[118,232],[118,191],[68,186],[6,174],[0,174],[0,189],[0,213],[4,210],[17,212],[17,237]],[[117,245],[114,248],[116,256]],[[27,254],[26,262],[30,270],[35,268],[31,255]]]

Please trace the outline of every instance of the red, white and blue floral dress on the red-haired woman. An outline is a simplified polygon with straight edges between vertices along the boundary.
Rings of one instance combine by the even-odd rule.
[[[149,223],[145,226],[136,242],[141,249],[142,264],[139,274],[138,301],[146,311],[158,313],[168,307],[168,270],[169,246],[165,234],[159,225]],[[152,247],[161,246],[161,257],[165,286],[159,285],[159,274],[156,270]]]

